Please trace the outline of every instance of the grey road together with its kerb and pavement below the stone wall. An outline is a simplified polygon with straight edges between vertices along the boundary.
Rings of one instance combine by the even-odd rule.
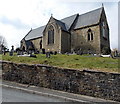
[[[10,81],[0,82],[3,102],[82,102],[82,104],[120,104],[111,100],[72,94]],[[1,94],[0,94],[1,95]]]

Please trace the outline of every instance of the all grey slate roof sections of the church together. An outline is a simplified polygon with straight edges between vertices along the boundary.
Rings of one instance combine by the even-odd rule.
[[[74,29],[97,24],[100,20],[102,9],[103,9],[103,7],[93,10],[93,11],[90,11],[90,12],[87,12],[82,15],[75,14],[75,15],[66,17],[61,20],[57,20],[55,18],[54,19],[56,20],[56,23],[61,27],[62,30],[69,32],[69,29],[71,28],[72,24],[75,22],[77,17],[78,17],[78,19],[77,19]],[[45,27],[46,26],[42,26],[42,27],[31,30],[25,36],[25,40],[31,40],[31,39],[42,37]]]

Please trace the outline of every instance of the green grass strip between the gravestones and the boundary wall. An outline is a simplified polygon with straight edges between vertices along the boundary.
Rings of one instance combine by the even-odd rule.
[[[86,57],[85,55],[57,54],[51,55],[51,58],[46,58],[43,54],[37,54],[37,58],[3,55],[2,60],[12,61],[15,63],[45,64],[64,68],[74,68],[78,70],[91,69],[105,72],[119,72],[118,59]]]

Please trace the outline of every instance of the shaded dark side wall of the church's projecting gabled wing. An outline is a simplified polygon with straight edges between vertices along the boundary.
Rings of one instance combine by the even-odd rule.
[[[70,34],[64,31],[61,35],[61,52],[70,52]]]

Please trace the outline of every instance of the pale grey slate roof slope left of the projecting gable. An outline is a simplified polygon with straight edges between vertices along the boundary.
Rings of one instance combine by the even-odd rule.
[[[32,29],[32,31],[26,35],[25,40],[31,40],[34,38],[42,37],[43,36],[42,32],[43,32],[44,28],[45,28],[45,26],[42,26],[42,27],[39,27],[36,29]]]

